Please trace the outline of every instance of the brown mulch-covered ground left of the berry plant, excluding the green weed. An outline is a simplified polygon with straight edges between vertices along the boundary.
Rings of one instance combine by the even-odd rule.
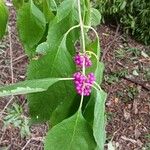
[[[15,10],[10,7],[10,16],[9,16],[9,27],[10,35],[7,35],[0,41],[0,85],[6,85],[12,83],[12,74],[10,67],[10,60],[12,57],[13,64],[13,82],[18,82],[24,80],[26,77],[26,66],[27,66],[27,57],[24,54],[21,43],[19,42],[17,31],[16,31],[16,14]],[[10,53],[10,39],[12,43],[13,54]],[[11,97],[0,98],[0,150],[4,148],[8,150],[21,150],[26,143],[28,145],[25,147],[25,150],[43,150],[42,139],[45,136],[45,133],[48,129],[46,124],[35,125],[30,127],[30,135],[26,138],[22,138],[20,130],[15,128],[13,125],[4,128],[4,117],[7,116],[7,108],[11,108],[13,103],[17,103],[22,106],[24,114],[26,117],[28,110],[26,99],[23,96],[15,96],[12,100]],[[8,105],[9,104],[9,105]],[[7,106],[8,105],[8,106]],[[6,107],[7,106],[7,107]],[[6,109],[4,110],[4,108]]]

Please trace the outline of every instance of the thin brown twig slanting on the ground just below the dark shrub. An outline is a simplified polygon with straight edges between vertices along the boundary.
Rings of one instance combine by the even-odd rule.
[[[118,24],[117,26],[117,29],[116,29],[116,32],[115,32],[115,36],[114,36],[114,39],[112,41],[110,41],[107,45],[106,45],[106,48],[103,50],[103,54],[102,54],[102,58],[101,60],[103,61],[107,52],[109,51],[110,47],[112,46],[112,44],[119,38],[117,38],[117,35],[118,35],[118,31],[119,31],[119,28],[120,28],[120,25]],[[107,47],[108,46],[108,47]]]

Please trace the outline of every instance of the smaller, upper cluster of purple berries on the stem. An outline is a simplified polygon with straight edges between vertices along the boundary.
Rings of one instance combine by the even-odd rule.
[[[86,54],[77,54],[74,57],[74,61],[75,61],[76,65],[78,65],[79,67],[83,67],[84,61],[85,61],[85,67],[90,67],[92,65],[92,62],[91,62],[89,56]]]

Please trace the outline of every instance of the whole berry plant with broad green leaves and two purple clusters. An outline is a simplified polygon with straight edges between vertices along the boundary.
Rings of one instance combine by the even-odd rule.
[[[103,150],[106,93],[99,84],[104,65],[92,27],[100,22],[99,12],[89,0],[14,0],[14,5],[30,62],[27,80],[0,87],[0,96],[27,94],[32,122],[52,124],[45,150]]]

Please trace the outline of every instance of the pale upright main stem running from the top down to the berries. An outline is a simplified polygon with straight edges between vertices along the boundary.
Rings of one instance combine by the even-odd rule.
[[[84,24],[82,20],[80,0],[78,0],[78,11],[79,11],[79,21],[80,21],[80,28],[81,28],[82,49],[83,49],[83,53],[85,54],[86,50],[85,50]],[[83,72],[83,75],[85,75],[85,59],[83,61],[82,72]]]

